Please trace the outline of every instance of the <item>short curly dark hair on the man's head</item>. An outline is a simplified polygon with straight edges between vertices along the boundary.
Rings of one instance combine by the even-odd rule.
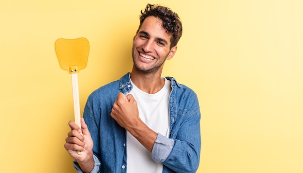
[[[182,23],[178,14],[164,6],[147,4],[145,11],[141,10],[140,25],[138,30],[148,16],[154,16],[161,19],[163,23],[162,27],[167,30],[168,34],[172,34],[170,39],[170,49],[177,45],[182,36]]]

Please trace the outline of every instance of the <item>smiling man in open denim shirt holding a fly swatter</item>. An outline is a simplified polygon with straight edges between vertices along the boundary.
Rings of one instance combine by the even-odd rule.
[[[72,130],[64,147],[75,159],[77,172],[197,171],[201,145],[197,95],[174,78],[161,77],[181,35],[182,23],[167,7],[148,4],[141,11],[132,72],[91,93],[82,130],[69,122]]]

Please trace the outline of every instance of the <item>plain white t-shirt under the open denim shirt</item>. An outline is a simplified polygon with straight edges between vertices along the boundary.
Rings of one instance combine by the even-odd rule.
[[[131,82],[132,83],[132,82]],[[148,94],[132,83],[130,94],[137,101],[141,120],[153,131],[166,137],[169,135],[168,100],[171,91],[170,81],[165,78],[164,87],[155,94]],[[148,151],[127,131],[127,172],[162,173],[163,164],[152,160]]]

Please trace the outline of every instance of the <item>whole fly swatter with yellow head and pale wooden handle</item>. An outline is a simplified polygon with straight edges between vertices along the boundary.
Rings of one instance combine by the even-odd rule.
[[[75,122],[81,128],[77,74],[87,65],[90,43],[86,38],[58,39],[55,42],[55,50],[61,68],[72,74]],[[82,154],[81,151],[77,153]]]

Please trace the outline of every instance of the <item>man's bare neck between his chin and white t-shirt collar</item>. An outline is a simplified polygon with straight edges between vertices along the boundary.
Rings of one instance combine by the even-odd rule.
[[[165,84],[165,80],[161,78],[161,72],[145,74],[133,68],[130,77],[136,87],[149,94],[158,92]]]

